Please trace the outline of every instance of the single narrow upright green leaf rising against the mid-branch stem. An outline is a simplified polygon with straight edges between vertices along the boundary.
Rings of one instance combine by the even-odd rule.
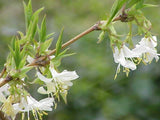
[[[60,53],[61,47],[62,47],[63,31],[64,31],[64,28],[62,28],[61,33],[60,33],[58,40],[57,40],[57,43],[56,43],[56,55],[55,56],[58,56],[58,54]]]

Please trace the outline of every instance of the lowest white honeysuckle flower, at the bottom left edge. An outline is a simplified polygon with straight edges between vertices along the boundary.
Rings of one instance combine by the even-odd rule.
[[[38,117],[44,114],[43,111],[52,111],[54,98],[45,98],[40,101],[35,100],[32,96],[27,96],[26,98],[22,97],[20,103],[13,104],[13,108],[16,113],[18,112],[28,112],[29,118],[29,111],[33,112],[33,115],[36,120]]]

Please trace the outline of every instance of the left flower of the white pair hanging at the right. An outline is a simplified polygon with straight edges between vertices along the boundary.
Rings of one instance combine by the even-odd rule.
[[[118,49],[118,47],[115,47],[113,57],[115,63],[118,63],[115,78],[117,76],[117,73],[120,71],[120,66],[123,66],[125,68],[124,72],[126,73],[129,72],[129,69],[136,69],[136,64],[133,62],[132,58],[138,57],[138,55],[135,52],[131,51],[127,46],[123,45],[120,49]]]

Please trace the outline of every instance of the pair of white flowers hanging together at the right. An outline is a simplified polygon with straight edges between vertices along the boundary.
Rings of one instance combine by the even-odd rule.
[[[113,56],[115,63],[118,63],[115,78],[117,73],[120,71],[120,66],[124,67],[124,72],[128,75],[130,69],[135,70],[136,64],[141,60],[145,64],[151,63],[154,58],[158,61],[159,54],[157,54],[157,50],[155,49],[156,46],[157,38],[156,36],[151,36],[142,38],[132,50],[130,50],[126,45],[123,45],[120,49],[115,47]]]

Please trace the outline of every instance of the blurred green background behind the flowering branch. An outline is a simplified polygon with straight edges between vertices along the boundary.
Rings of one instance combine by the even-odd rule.
[[[145,0],[160,5],[160,0]],[[32,0],[33,9],[45,7],[48,33],[55,41],[64,27],[63,41],[105,19],[114,0]],[[160,7],[143,9],[160,37]],[[119,31],[126,32],[123,24]],[[8,44],[17,31],[25,31],[22,0],[0,0],[0,69],[9,52]],[[70,46],[77,54],[62,61],[59,69],[76,70],[80,78],[69,90],[68,104],[60,102],[44,120],[160,120],[160,61],[140,64],[127,78],[124,73],[113,80],[114,63],[107,35],[96,44],[99,32],[92,32]],[[54,42],[55,43],[55,42]],[[160,42],[158,49],[160,53]],[[51,47],[52,49],[55,47]],[[39,97],[35,87],[32,95]]]

